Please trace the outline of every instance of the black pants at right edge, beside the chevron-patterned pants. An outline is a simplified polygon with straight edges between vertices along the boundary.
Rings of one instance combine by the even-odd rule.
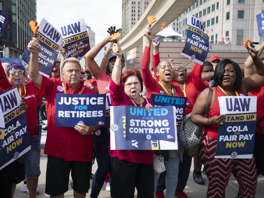
[[[255,143],[254,143],[254,158],[256,162],[257,174],[258,176],[264,170],[264,134],[257,133],[255,134]]]

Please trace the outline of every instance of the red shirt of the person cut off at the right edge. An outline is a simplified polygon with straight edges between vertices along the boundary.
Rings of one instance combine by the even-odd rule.
[[[248,96],[257,96],[257,121],[264,116],[264,84],[253,91],[248,92]],[[264,121],[259,124],[264,129]],[[260,131],[260,127],[256,128],[256,132],[264,134]]]

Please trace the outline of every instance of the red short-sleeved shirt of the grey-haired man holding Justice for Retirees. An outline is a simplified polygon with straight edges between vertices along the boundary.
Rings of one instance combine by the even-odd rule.
[[[34,86],[35,93],[47,100],[48,132],[44,153],[63,158],[65,161],[91,162],[93,136],[82,135],[74,127],[59,127],[55,124],[56,93],[64,93],[62,83],[64,83],[67,94],[78,94],[84,86],[81,82],[81,85],[73,92],[65,81],[52,81],[44,76],[42,76],[40,89]],[[96,94],[96,92],[85,86],[81,94]]]

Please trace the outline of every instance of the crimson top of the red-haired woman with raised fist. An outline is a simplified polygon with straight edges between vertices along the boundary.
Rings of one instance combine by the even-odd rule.
[[[117,85],[114,81],[111,80],[110,82],[110,94],[111,94],[111,103],[112,106],[134,106],[133,102],[130,98],[126,95],[123,91],[122,83]],[[153,105],[153,101],[147,98],[149,103]],[[140,104],[135,103],[137,106]],[[147,105],[147,100],[144,100],[142,106]],[[138,164],[150,164],[153,162],[153,151],[152,150],[117,150],[118,156],[111,156],[111,157],[118,157],[118,159],[123,159],[129,162],[138,163]]]

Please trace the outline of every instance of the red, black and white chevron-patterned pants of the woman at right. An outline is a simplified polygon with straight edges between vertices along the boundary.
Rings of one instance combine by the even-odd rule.
[[[214,158],[217,140],[203,135],[199,152],[209,180],[207,197],[225,197],[231,173],[239,184],[238,198],[255,197],[257,171],[252,159]]]

